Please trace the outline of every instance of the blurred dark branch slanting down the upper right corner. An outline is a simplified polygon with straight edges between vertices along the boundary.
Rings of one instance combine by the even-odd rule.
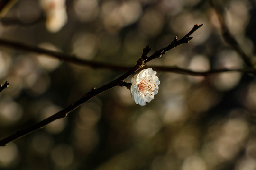
[[[229,44],[234,50],[238,52],[238,54],[241,56],[245,64],[249,67],[252,67],[252,61],[249,56],[243,51],[243,49],[240,47],[238,44],[237,40],[235,37],[230,33],[228,26],[226,25],[224,19],[223,19],[223,13],[224,9],[222,8],[222,5],[216,2],[216,0],[209,0],[211,6],[214,8],[216,11],[216,14],[219,18],[219,23],[221,25],[221,33],[222,37],[225,40],[227,44]]]

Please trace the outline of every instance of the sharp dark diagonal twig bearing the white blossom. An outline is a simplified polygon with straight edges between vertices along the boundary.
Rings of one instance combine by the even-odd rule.
[[[198,27],[198,25],[195,25],[194,28],[192,29],[193,31],[196,31],[197,29],[195,28],[200,28]],[[165,47],[164,49],[169,49],[171,50],[172,48],[182,44],[182,43],[187,43],[189,42],[192,38],[189,37],[193,32],[189,32],[189,34],[185,35],[185,37],[183,37],[181,40],[177,40],[174,39],[173,42],[171,42],[171,44],[173,44],[171,46],[171,48],[169,46]],[[46,126],[47,124],[57,120],[57,119],[61,119],[61,118],[65,118],[67,117],[67,115],[74,109],[76,109],[77,107],[79,107],[81,104],[83,104],[84,102],[90,100],[91,98],[99,95],[100,93],[103,93],[107,90],[109,90],[112,87],[115,86],[126,86],[127,88],[129,88],[129,83],[124,83],[124,80],[132,75],[133,73],[135,73],[137,70],[139,70],[140,68],[144,67],[146,65],[146,63],[148,61],[146,61],[147,59],[156,59],[161,57],[164,53],[163,51],[161,52],[155,52],[154,54],[152,54],[151,56],[147,57],[147,54],[149,53],[149,51],[151,50],[151,48],[149,48],[148,46],[143,50],[143,54],[141,56],[140,59],[138,59],[137,64],[129,69],[126,73],[124,73],[122,76],[119,76],[117,79],[111,81],[110,83],[101,86],[100,88],[93,88],[90,92],[86,93],[84,96],[82,96],[82,98],[80,98],[79,100],[77,100],[76,102],[73,102],[71,105],[69,105],[68,107],[66,107],[65,109],[55,113],[54,115],[40,121],[39,123],[32,125],[31,127],[28,127],[24,130],[18,131],[13,135],[10,135],[6,138],[3,138],[0,140],[0,146],[5,146],[6,144],[8,144],[11,141],[14,141],[22,136],[26,136],[27,134],[30,134],[33,131],[36,131],[38,129],[43,128],[44,126]],[[168,50],[168,51],[169,51]],[[167,52],[167,51],[165,51]]]

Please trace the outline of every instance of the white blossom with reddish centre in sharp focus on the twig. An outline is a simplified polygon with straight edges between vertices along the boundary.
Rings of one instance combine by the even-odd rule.
[[[158,93],[160,81],[152,68],[141,70],[131,79],[131,94],[136,104],[145,106]]]

